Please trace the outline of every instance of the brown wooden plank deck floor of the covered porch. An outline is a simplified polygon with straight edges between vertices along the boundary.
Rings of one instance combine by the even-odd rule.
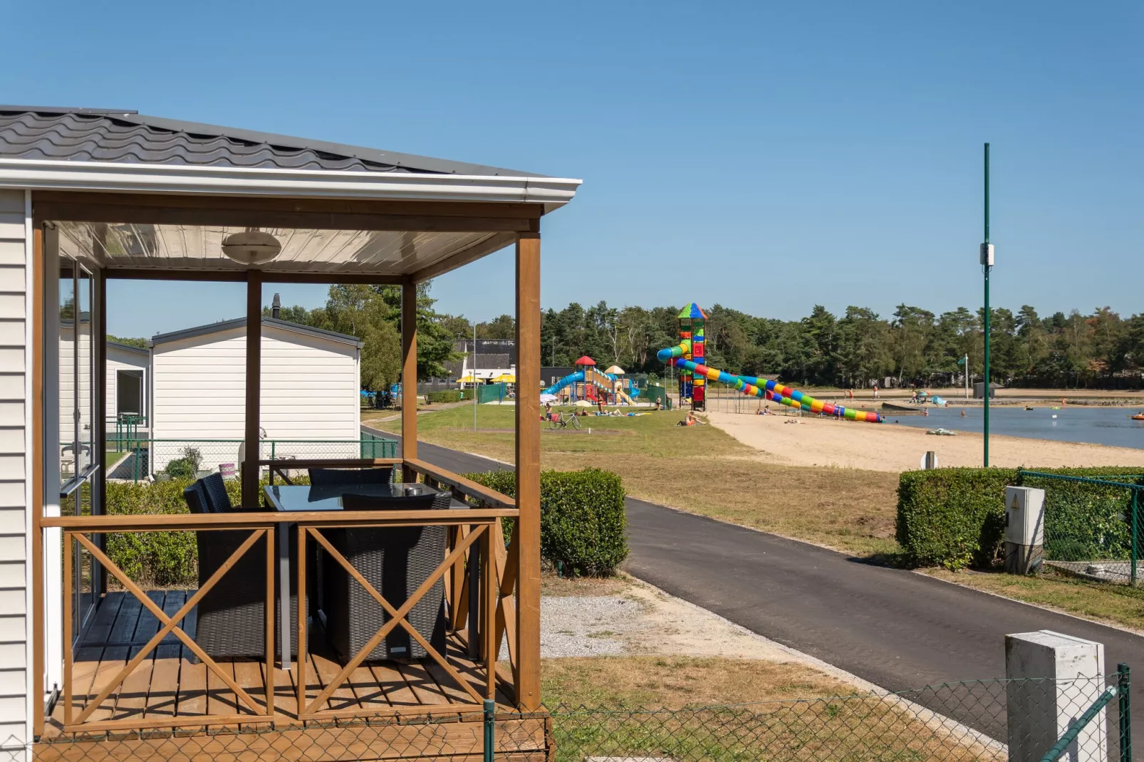
[[[168,613],[176,612],[186,601],[185,590],[152,592],[150,597]],[[193,637],[193,612],[188,618],[185,629]],[[73,721],[74,717],[92,701],[97,693],[124,668],[128,660],[135,657],[146,641],[159,630],[159,622],[140,601],[130,594],[110,593],[105,596],[95,620],[90,625],[82,643],[76,651],[73,665]],[[320,642],[320,629],[315,632],[311,642],[313,648],[316,642]],[[483,690],[483,674],[468,657],[463,644],[451,637],[448,642],[448,659],[452,666],[466,677],[471,680],[472,686],[480,692]],[[241,686],[259,706],[259,712],[265,712],[265,697],[268,681],[264,675],[264,665],[254,661],[227,661],[220,662],[235,682]],[[296,667],[295,667],[296,668]],[[318,648],[307,654],[305,669],[308,685],[308,697],[312,700],[327,685],[331,680],[341,670],[342,664],[336,660],[332,652],[323,651]],[[323,719],[319,721],[300,721],[297,719],[296,689],[294,670],[286,672],[276,668],[271,682],[273,683],[275,714],[273,729],[281,732],[295,732],[301,730],[323,730],[328,732],[329,724],[334,719]],[[498,704],[509,709],[507,697],[499,694]],[[458,728],[454,731],[460,733],[458,739],[448,741],[450,748],[456,744],[458,749],[467,749],[479,753],[479,732],[472,736],[475,725],[479,731],[478,717],[472,712],[474,700],[460,685],[436,662],[431,660],[399,664],[394,661],[367,662],[358,667],[350,678],[337,689],[323,712],[336,713],[336,719],[344,724],[352,720],[351,715],[373,717],[379,715],[400,715],[402,721],[412,715],[424,717],[430,715],[432,723],[443,722],[450,719],[453,724],[463,724],[467,728]],[[198,729],[206,732],[205,725],[210,723],[210,715],[249,715],[251,725],[245,722],[219,727],[214,724],[209,732],[220,731],[259,731],[259,736],[265,736],[268,730],[268,717],[259,714],[237,699],[233,691],[219,678],[216,674],[207,668],[205,664],[196,664],[189,649],[186,649],[175,636],[168,635],[160,645],[145,658],[116,689],[98,708],[85,720],[84,724],[93,722],[125,721],[140,728],[161,727],[170,729],[172,739],[175,739],[174,729]],[[57,701],[55,711],[45,729],[43,739],[58,740],[61,737],[73,737],[64,731],[63,699]],[[543,756],[545,729],[542,720],[525,720],[531,723],[527,727],[521,725],[518,730],[525,738],[537,737],[540,746],[534,744],[535,749],[529,756],[534,756],[539,751]],[[539,725],[537,723],[540,723]],[[257,724],[256,724],[257,723]],[[130,729],[128,725],[127,730]],[[435,724],[436,727],[436,724]],[[93,728],[95,730],[95,728]],[[119,732],[119,729],[117,729]],[[271,732],[271,736],[275,733]],[[423,735],[423,733],[422,733]],[[469,737],[478,744],[474,749],[468,749]],[[188,737],[188,736],[180,736]],[[525,743],[530,746],[532,741]],[[49,744],[54,748],[45,748],[48,756],[56,755],[66,747],[77,749],[73,745],[61,746]],[[268,747],[269,748],[269,747]],[[95,754],[96,751],[87,749],[84,754]],[[140,755],[140,752],[133,752]],[[184,752],[185,754],[185,752]],[[435,755],[440,755],[438,749]],[[450,756],[451,754],[446,754]],[[148,755],[142,755],[148,756]],[[141,756],[141,759],[142,759]],[[206,754],[205,756],[209,756]],[[419,756],[413,754],[412,756]],[[39,755],[38,755],[39,757]],[[67,755],[67,759],[71,754]],[[64,757],[59,757],[64,759]],[[162,759],[161,755],[150,755],[150,759]],[[261,759],[261,757],[252,757]],[[270,757],[267,757],[270,759]],[[305,755],[299,759],[319,759]],[[321,756],[320,759],[342,759],[333,756]],[[359,759],[350,756],[345,759]],[[360,757],[366,759],[366,757]],[[390,757],[378,757],[390,759]]]

